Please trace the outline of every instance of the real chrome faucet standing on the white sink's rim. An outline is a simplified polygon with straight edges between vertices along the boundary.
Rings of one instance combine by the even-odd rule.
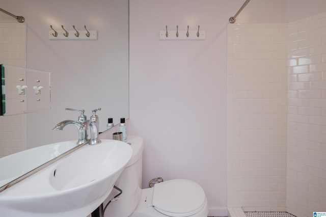
[[[99,130],[99,119],[98,116],[96,115],[97,111],[100,111],[101,108],[96,108],[93,110],[93,115],[91,116],[90,120],[84,121],[82,125],[79,127],[80,130],[87,130],[90,126],[91,130],[91,140],[89,142],[90,145],[96,145],[100,144],[101,140],[99,139],[98,136],[98,130]]]

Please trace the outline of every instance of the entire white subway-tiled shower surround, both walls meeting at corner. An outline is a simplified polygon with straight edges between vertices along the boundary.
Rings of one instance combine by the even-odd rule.
[[[325,210],[326,13],[228,37],[228,207]]]

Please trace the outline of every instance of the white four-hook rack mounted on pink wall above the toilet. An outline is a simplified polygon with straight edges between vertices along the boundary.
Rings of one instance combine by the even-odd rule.
[[[189,30],[189,25],[184,31],[180,31],[177,25],[177,29],[169,30],[166,25],[166,30],[159,31],[159,40],[206,40],[206,31],[199,30],[199,25],[196,30]]]

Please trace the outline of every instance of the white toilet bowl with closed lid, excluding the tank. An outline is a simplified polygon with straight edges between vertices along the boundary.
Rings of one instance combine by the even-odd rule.
[[[141,200],[131,217],[207,217],[208,203],[202,187],[194,181],[172,179],[142,189]]]

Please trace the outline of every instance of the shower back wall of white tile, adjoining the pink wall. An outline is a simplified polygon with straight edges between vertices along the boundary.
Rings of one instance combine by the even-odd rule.
[[[286,210],[287,23],[228,26],[228,207]]]

